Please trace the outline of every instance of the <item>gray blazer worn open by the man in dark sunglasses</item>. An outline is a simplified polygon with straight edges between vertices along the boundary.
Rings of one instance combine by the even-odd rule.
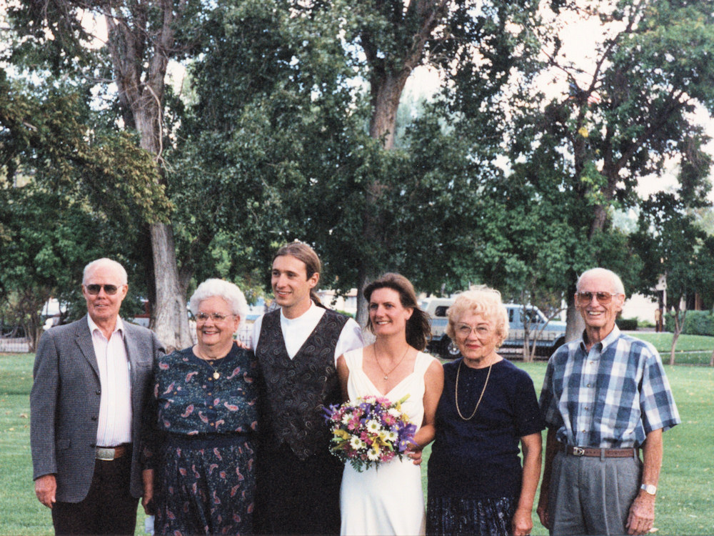
[[[154,359],[164,353],[154,332],[124,322],[131,364],[131,495],[141,497],[141,420],[151,393]],[[33,479],[56,475],[56,500],[79,502],[94,473],[99,425],[99,368],[86,317],[42,335],[30,392]]]

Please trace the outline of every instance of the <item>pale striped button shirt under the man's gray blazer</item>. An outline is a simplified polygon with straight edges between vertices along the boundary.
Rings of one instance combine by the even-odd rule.
[[[96,445],[116,447],[131,443],[131,364],[124,346],[124,324],[117,317],[114,332],[107,340],[89,315],[87,321],[101,385]]]

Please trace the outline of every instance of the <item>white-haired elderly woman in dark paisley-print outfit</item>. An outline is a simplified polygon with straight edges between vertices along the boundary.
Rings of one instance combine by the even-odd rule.
[[[252,532],[257,364],[233,334],[248,310],[236,285],[207,279],[189,304],[198,343],[154,365],[153,467],[157,535]],[[151,495],[151,494],[149,494]],[[151,496],[144,496],[144,504]]]

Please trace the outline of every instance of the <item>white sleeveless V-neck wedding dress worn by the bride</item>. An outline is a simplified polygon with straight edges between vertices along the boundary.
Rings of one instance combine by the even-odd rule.
[[[382,396],[362,370],[362,349],[345,354],[350,370],[347,391],[351,400],[368,394]],[[403,412],[417,427],[424,418],[424,374],[433,357],[419,352],[414,372],[385,394],[391,402],[409,395]],[[421,469],[412,460],[394,458],[358,472],[345,465],[340,490],[341,534],[345,536],[423,535],[426,532]]]

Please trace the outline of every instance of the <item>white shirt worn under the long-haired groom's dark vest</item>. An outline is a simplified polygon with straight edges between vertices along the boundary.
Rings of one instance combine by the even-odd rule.
[[[310,337],[311,333],[317,327],[322,315],[325,314],[323,307],[318,307],[314,302],[310,302],[310,309],[301,314],[297,318],[287,318],[283,314],[283,309],[280,311],[280,327],[283,332],[283,340],[285,341],[285,349],[288,351],[288,357],[293,359],[301,349],[305,341]],[[261,327],[263,326],[263,316],[259,317],[253,324],[252,347],[258,347],[258,339],[261,336]],[[348,319],[347,323],[340,332],[340,337],[337,340],[335,347],[335,361],[345,352],[364,346],[362,339],[362,329],[359,324],[353,319]]]

